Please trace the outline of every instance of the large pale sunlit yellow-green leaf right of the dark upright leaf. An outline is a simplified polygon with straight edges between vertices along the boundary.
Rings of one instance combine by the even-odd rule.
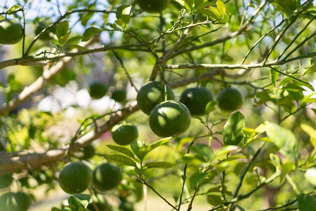
[[[266,133],[283,155],[293,160],[298,157],[298,143],[292,131],[269,122]]]

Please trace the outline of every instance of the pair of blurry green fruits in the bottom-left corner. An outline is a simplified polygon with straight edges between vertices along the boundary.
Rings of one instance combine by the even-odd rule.
[[[0,176],[0,189],[8,188],[13,182],[12,174]],[[0,196],[0,211],[26,211],[30,207],[30,197],[24,192],[8,192]]]

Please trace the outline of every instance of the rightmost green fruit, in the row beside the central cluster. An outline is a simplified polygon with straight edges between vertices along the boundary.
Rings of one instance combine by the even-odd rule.
[[[217,101],[220,109],[229,112],[240,109],[243,102],[241,93],[235,88],[222,90],[217,96]]]

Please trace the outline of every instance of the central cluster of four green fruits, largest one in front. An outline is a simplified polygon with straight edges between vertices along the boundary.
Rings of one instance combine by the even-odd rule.
[[[137,94],[138,107],[149,115],[149,126],[160,137],[179,136],[187,131],[191,115],[205,114],[205,107],[214,101],[212,93],[205,88],[188,88],[174,100],[172,89],[159,81],[145,83]],[[242,95],[234,88],[222,90],[217,97],[219,107],[234,111],[242,105]]]

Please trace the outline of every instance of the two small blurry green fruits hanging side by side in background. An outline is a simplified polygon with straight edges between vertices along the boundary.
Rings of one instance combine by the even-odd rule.
[[[108,92],[108,86],[100,81],[94,81],[89,85],[88,92],[93,99],[101,99]],[[111,98],[116,102],[122,103],[126,100],[126,91],[124,89],[115,89],[111,92]]]

